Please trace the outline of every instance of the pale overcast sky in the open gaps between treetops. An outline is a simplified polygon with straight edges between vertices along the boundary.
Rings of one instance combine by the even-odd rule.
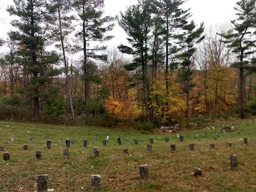
[[[138,0],[105,0],[105,12],[107,15],[117,15],[120,11],[124,12],[127,6],[137,2]],[[207,28],[234,19],[236,2],[237,0],[188,0],[184,7],[191,8],[192,19],[197,24],[204,22]],[[11,18],[6,12],[8,4],[12,4],[12,0],[0,0],[0,37],[2,38],[6,38],[6,33],[11,29]],[[119,26],[116,26],[111,33],[115,35],[111,44],[118,45],[126,42],[125,32]]]

